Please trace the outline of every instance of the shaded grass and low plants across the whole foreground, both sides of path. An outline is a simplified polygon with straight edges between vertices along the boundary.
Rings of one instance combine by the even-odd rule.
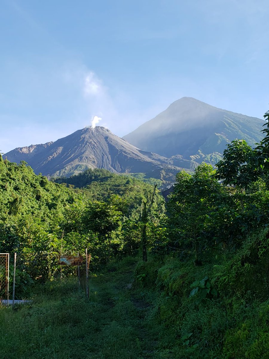
[[[218,297],[189,297],[212,264],[124,258],[91,275],[89,299],[76,278],[36,286],[30,306],[0,308],[0,358],[268,359],[269,300],[227,297],[219,276]]]

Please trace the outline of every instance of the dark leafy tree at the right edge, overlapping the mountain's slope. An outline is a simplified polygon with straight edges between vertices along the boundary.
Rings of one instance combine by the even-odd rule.
[[[265,118],[268,116],[269,112],[265,114]],[[222,214],[220,210],[215,215],[219,222],[220,215],[226,217],[223,225],[227,231],[224,232],[230,232],[231,237],[236,235],[240,238],[240,232],[265,224],[268,216],[268,175],[265,171],[268,168],[268,122],[264,126],[266,136],[254,150],[244,140],[233,140],[224,151],[223,159],[216,164],[216,178],[229,186],[234,205],[230,209],[223,208]]]

